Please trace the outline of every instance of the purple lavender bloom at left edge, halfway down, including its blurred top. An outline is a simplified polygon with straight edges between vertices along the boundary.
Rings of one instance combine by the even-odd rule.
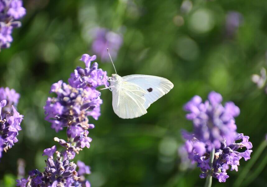
[[[0,158],[2,151],[7,151],[18,141],[16,137],[21,130],[23,115],[12,105],[16,105],[18,99],[19,94],[15,90],[0,88]]]

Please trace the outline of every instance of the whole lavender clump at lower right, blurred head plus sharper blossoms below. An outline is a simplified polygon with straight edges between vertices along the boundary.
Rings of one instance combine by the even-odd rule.
[[[211,92],[204,103],[199,96],[194,96],[185,104],[185,110],[190,112],[186,118],[193,121],[194,132],[182,132],[186,140],[182,148],[187,151],[191,162],[196,162],[201,169],[200,178],[212,175],[219,182],[225,182],[229,177],[226,173],[229,165],[231,170],[237,171],[241,158],[250,159],[252,144],[248,136],[236,132],[234,117],[239,115],[239,108],[232,102],[223,107],[221,102],[222,96]],[[246,151],[239,152],[242,148]],[[212,149],[215,149],[215,156],[211,168]]]

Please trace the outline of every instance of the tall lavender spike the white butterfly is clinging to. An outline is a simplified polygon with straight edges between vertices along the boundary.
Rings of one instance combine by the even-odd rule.
[[[84,147],[90,147],[88,129],[94,128],[94,125],[89,124],[87,117],[98,119],[100,116],[102,100],[96,87],[108,84],[106,72],[98,69],[96,62],[90,66],[95,59],[95,55],[82,55],[81,60],[85,62],[86,68],[77,67],[71,74],[69,84],[62,80],[53,84],[50,92],[56,93],[57,97],[48,98],[44,106],[45,119],[51,122],[51,128],[58,132],[67,127],[68,142],[58,138],[55,141],[73,150],[73,155]]]

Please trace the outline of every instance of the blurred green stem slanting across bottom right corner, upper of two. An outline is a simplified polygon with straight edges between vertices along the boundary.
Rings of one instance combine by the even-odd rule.
[[[262,151],[265,149],[266,146],[267,146],[267,141],[266,140],[262,141],[258,149],[253,154],[251,160],[247,163],[246,167],[241,171],[240,175],[238,176],[237,180],[233,185],[234,187],[239,187],[241,185],[242,181],[245,179],[251,167],[255,164],[255,162],[260,157]]]

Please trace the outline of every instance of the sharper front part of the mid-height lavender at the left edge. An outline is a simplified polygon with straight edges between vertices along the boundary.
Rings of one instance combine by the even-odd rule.
[[[4,96],[1,94],[0,97]],[[10,109],[7,103],[12,103],[12,101],[0,101],[0,158],[2,151],[7,151],[18,141],[16,137],[21,130],[20,124],[23,119],[23,115],[20,115],[13,105]]]

